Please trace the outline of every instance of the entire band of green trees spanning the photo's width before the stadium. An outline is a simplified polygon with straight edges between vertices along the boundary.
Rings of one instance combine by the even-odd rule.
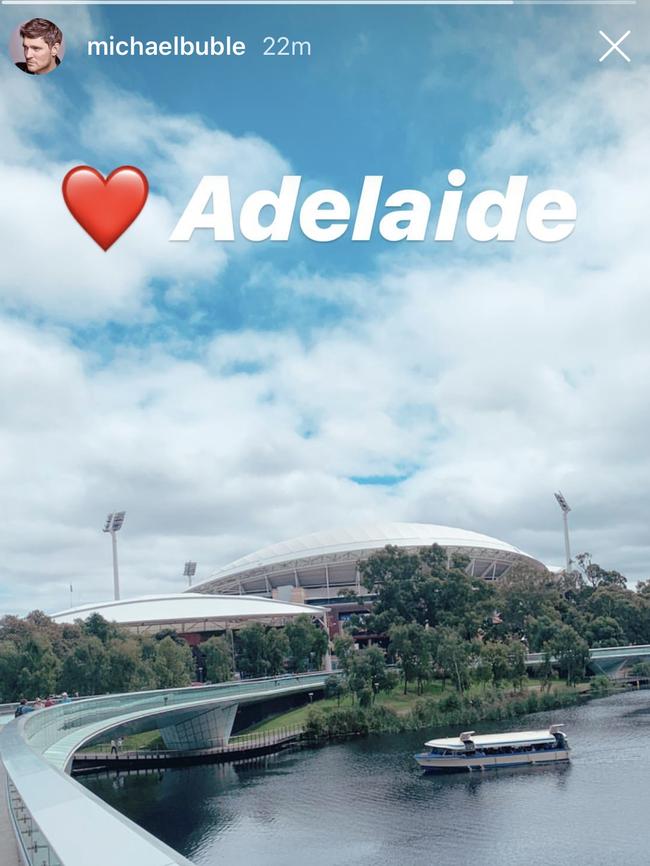
[[[361,563],[370,613],[352,617],[349,631],[379,646],[354,651],[348,633],[334,650],[345,672],[342,684],[361,705],[395,685],[422,692],[434,678],[462,693],[473,682],[520,685],[527,652],[542,653],[539,676],[550,682],[551,658],[567,682],[584,674],[589,647],[650,643],[650,581],[635,589],[617,571],[589,554],[570,573],[515,565],[496,581],[472,577],[463,556],[448,560],[433,545],[420,551],[388,546]],[[380,648],[381,647],[381,648]],[[321,668],[326,632],[308,615],[284,628],[259,623],[215,635],[198,647],[170,629],[139,636],[98,614],[59,625],[40,611],[0,620],[0,700],[61,691],[83,695],[224,682]]]

